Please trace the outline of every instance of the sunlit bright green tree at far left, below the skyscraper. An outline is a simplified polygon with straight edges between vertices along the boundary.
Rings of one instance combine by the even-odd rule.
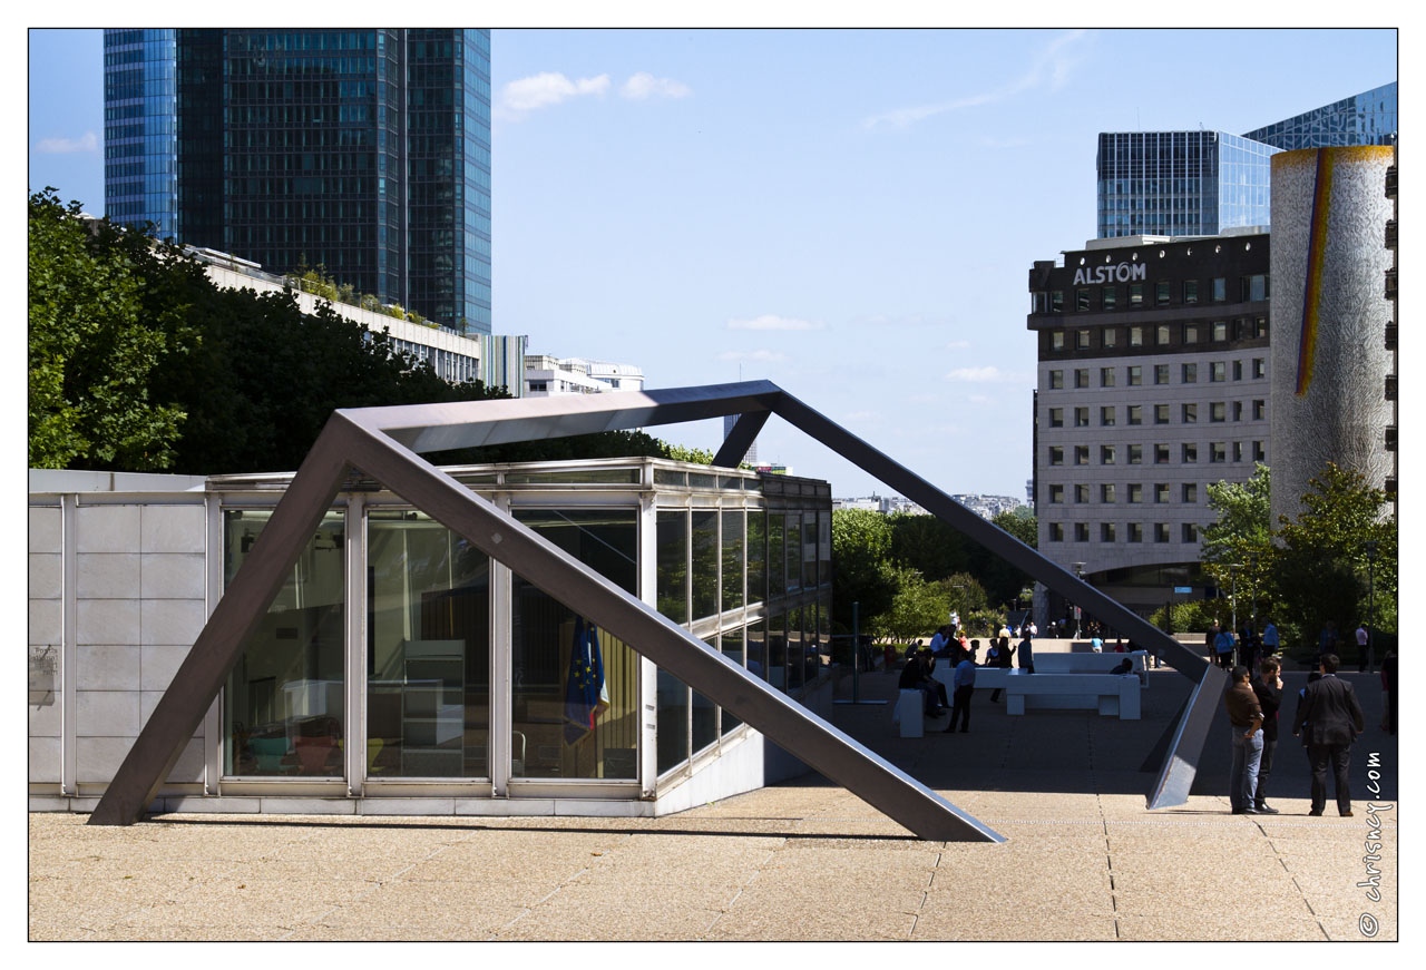
[[[30,465],[165,471],[185,409],[150,377],[197,342],[187,307],[150,294],[175,250],[78,215],[53,188],[30,195]]]

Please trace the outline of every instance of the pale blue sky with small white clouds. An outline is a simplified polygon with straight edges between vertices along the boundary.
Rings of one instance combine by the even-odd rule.
[[[100,31],[30,54],[29,187],[101,213]],[[496,30],[492,73],[496,332],[649,387],[767,378],[1024,498],[1027,272],[1094,235],[1097,133],[1242,133],[1393,80],[1396,33]],[[888,491],[776,418],[759,451]]]

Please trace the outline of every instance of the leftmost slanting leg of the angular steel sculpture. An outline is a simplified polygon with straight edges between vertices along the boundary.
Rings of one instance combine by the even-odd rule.
[[[345,454],[356,434],[341,412],[328,418],[252,552],[228,583],[114,780],[90,813],[88,824],[133,824],[153,803],[238,662],[244,642],[262,621],[331,508],[345,479]]]

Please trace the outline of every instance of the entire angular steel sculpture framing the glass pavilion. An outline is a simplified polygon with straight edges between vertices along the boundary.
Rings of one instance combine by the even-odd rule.
[[[348,469],[355,468],[619,636],[632,649],[917,836],[1002,842],[1000,834],[935,792],[419,458],[421,452],[431,451],[679,424],[730,414],[740,418],[719,451],[717,459],[723,466],[736,465],[767,415],[779,414],[1051,589],[1072,596],[1135,639],[1158,646],[1181,672],[1192,676],[1205,668],[1212,670],[1201,658],[1132,612],[767,381],[573,399],[526,398],[337,411],[145,722],[90,816],[90,824],[130,824],[143,816],[184,743],[217,698],[244,642],[275,598],[308,536],[331,506]],[[1194,718],[1194,708],[1189,705],[1184,723]],[[1192,746],[1194,733],[1188,732],[1185,737],[1181,743]],[[1198,743],[1201,746],[1201,737]],[[1194,756],[1196,759],[1196,749]],[[1192,765],[1175,757],[1171,750],[1156,790],[1182,790],[1186,795],[1188,785],[1182,783],[1185,769],[1191,783]],[[1172,783],[1165,783],[1165,779]]]

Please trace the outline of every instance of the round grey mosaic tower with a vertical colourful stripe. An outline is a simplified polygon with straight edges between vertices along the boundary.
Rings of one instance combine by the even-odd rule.
[[[1295,516],[1329,462],[1380,488],[1392,308],[1383,274],[1392,150],[1306,148],[1272,157],[1272,519]]]

